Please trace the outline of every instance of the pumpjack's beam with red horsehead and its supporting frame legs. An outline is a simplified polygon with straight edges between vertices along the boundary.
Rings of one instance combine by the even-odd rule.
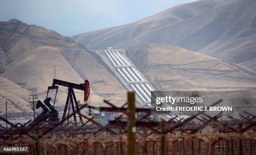
[[[64,119],[66,117],[67,107],[69,105],[69,101],[70,101],[70,104],[72,106],[72,111],[73,112],[75,111],[74,104],[76,106],[76,109],[79,109],[79,106],[77,104],[77,98],[76,98],[76,96],[74,94],[74,90],[73,89],[83,90],[84,91],[84,102],[87,101],[88,98],[89,98],[89,95],[90,95],[90,85],[89,85],[88,80],[85,80],[84,83],[78,85],[78,84],[71,83],[71,82],[66,82],[66,81],[62,81],[62,80],[53,79],[52,86],[48,87],[48,92],[49,92],[49,89],[51,89],[53,87],[57,88],[57,86],[55,86],[55,85],[61,85],[61,86],[64,86],[64,87],[68,87],[68,95],[67,95],[67,100],[66,100],[66,104],[65,104],[65,107],[64,107],[64,112],[63,112],[62,119]],[[48,92],[47,92],[47,95],[48,95]],[[56,91],[56,93],[57,93],[57,91]],[[74,100],[74,102],[73,102],[73,100]],[[54,102],[55,102],[55,100],[54,100]],[[82,117],[80,115],[80,112],[78,112],[78,115],[79,115],[79,119],[80,119],[81,124],[83,124],[83,120],[82,120]],[[77,118],[76,118],[75,114],[74,114],[74,122],[75,122],[75,124],[77,124]]]

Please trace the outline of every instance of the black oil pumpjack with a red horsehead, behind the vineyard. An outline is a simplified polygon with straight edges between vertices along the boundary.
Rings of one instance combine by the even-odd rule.
[[[35,125],[38,122],[43,123],[47,119],[49,119],[48,121],[51,122],[51,123],[59,122],[59,117],[58,117],[59,113],[57,112],[57,110],[54,109],[54,105],[55,105],[55,101],[56,101],[56,95],[57,95],[58,88],[59,88],[59,86],[57,86],[57,85],[68,87],[67,100],[66,100],[66,104],[65,104],[65,107],[64,107],[64,112],[63,112],[63,115],[62,115],[62,120],[66,117],[67,107],[68,107],[69,104],[71,105],[73,112],[75,111],[74,106],[76,107],[76,109],[79,109],[79,105],[77,104],[77,98],[74,94],[74,89],[84,91],[84,102],[87,102],[89,97],[90,97],[90,85],[89,85],[88,80],[85,80],[84,83],[82,83],[82,84],[75,84],[75,83],[71,83],[71,82],[67,82],[67,81],[53,79],[53,83],[52,83],[51,86],[48,87],[46,99],[44,100],[45,105],[47,107],[49,107],[49,109],[51,111],[49,111],[48,108],[40,100],[38,100],[37,103],[36,103],[36,109],[41,107],[43,109],[43,112],[41,112],[41,114],[38,115],[28,126]],[[53,106],[50,103],[51,97],[48,97],[49,90],[56,90]],[[87,105],[87,108],[89,108],[89,113],[91,111],[91,108],[96,108],[97,109],[97,107],[93,107],[93,106],[90,106],[90,105]],[[78,112],[78,116],[79,116],[79,120],[80,120],[81,124],[83,124],[83,120],[82,120],[80,112]],[[77,124],[77,118],[76,118],[75,113],[74,113],[74,123]]]

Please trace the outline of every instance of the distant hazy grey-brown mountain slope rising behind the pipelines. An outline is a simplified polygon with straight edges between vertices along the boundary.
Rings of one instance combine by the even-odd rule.
[[[255,7],[255,0],[199,0],[134,23],[72,38],[88,49],[128,48],[144,43],[178,45],[256,70]]]

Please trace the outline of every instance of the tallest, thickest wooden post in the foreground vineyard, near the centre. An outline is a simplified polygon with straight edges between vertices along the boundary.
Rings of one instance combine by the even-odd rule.
[[[128,92],[127,109],[127,154],[136,155],[135,93]]]

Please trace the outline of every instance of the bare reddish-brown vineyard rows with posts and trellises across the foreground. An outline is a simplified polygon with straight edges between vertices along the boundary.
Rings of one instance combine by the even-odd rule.
[[[203,111],[187,118],[151,119],[151,110],[136,108],[134,92],[121,107],[104,101],[109,107],[101,112],[122,113],[102,125],[83,115],[79,107],[58,123],[41,122],[28,126],[13,124],[0,127],[0,146],[28,146],[36,155],[253,155],[256,153],[256,116],[248,113],[222,118],[222,113],[209,116]],[[212,103],[215,106],[222,102]],[[86,122],[67,122],[80,113]],[[136,114],[143,117],[136,118]],[[127,117],[127,121],[121,118]],[[42,118],[41,120],[44,120]],[[15,154],[15,153],[14,153]],[[23,153],[24,154],[24,153]]]

